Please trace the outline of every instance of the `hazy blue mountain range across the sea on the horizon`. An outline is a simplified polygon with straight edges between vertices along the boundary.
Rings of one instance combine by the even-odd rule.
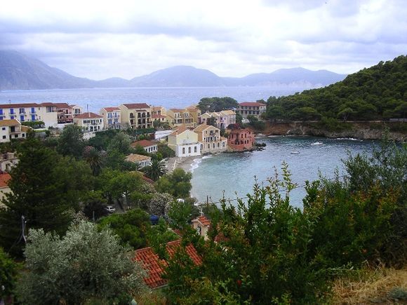
[[[206,69],[176,66],[130,81],[120,78],[93,81],[72,76],[21,53],[0,50],[0,90],[114,87],[217,87],[217,86],[302,86],[319,87],[345,79],[345,74],[303,68],[279,69],[245,77],[220,77]]]

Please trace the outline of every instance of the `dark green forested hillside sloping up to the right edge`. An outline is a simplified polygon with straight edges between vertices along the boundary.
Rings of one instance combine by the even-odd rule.
[[[288,121],[406,118],[407,57],[379,62],[325,88],[269,97],[266,117]]]

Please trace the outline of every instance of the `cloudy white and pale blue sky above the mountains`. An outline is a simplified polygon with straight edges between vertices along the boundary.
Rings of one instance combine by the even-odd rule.
[[[348,74],[407,54],[407,0],[1,2],[0,49],[95,80],[175,65]]]

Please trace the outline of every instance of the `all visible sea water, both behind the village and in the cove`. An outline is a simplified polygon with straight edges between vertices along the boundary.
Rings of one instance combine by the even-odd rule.
[[[309,88],[299,87],[196,87],[196,88],[92,88],[55,90],[8,90],[0,92],[0,104],[25,102],[67,102],[98,113],[102,107],[121,103],[145,102],[168,108],[197,104],[203,97],[233,97],[238,102],[267,100],[270,96],[290,95]],[[281,174],[286,162],[297,187],[291,191],[291,204],[302,206],[305,181],[319,175],[333,178],[335,170],[344,175],[342,160],[348,154],[371,154],[375,142],[358,139],[319,137],[262,137],[262,151],[218,154],[196,158],[192,164],[192,195],[200,203],[219,203],[225,197],[231,204],[253,193],[255,183]],[[283,194],[283,192],[281,193]]]

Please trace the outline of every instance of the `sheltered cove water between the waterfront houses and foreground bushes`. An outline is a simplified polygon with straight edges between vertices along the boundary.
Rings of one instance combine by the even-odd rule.
[[[257,142],[265,142],[263,151],[241,154],[218,154],[196,159],[192,165],[192,196],[199,202],[218,202],[225,192],[225,198],[235,199],[251,193],[255,177],[258,182],[267,184],[267,177],[274,175],[274,167],[281,173],[281,163],[286,161],[293,182],[302,186],[305,180],[319,177],[333,177],[335,168],[343,173],[341,159],[347,152],[371,154],[375,142],[368,140],[336,140],[321,137],[265,137]],[[319,144],[321,143],[321,144]],[[291,154],[299,152],[299,154]],[[302,206],[304,187],[291,192],[291,204]],[[236,201],[232,201],[236,203]]]

